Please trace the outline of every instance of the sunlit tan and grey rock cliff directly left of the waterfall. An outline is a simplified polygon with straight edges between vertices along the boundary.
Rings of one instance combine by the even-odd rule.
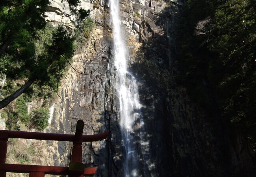
[[[73,58],[73,68],[67,71],[59,86],[59,98],[48,131],[56,133],[74,133],[76,122],[85,123],[83,134],[93,135],[109,129],[108,112],[113,108],[114,66],[111,64],[111,33],[109,30],[108,10],[100,6],[93,9],[94,2],[82,2],[91,7],[91,17],[97,28],[91,31],[91,37]],[[104,3],[102,3],[103,5]],[[111,79],[110,79],[111,77]],[[110,113],[109,113],[110,114]],[[114,114],[113,114],[114,116]],[[117,123],[116,123],[117,124]],[[53,152],[54,165],[68,165],[71,144],[69,142],[50,142],[56,147]],[[55,143],[55,144],[54,144]],[[109,140],[83,144],[83,162],[87,166],[98,166],[98,176],[109,174]]]

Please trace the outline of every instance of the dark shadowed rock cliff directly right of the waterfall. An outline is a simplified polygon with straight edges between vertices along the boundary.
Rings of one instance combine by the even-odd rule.
[[[209,116],[177,84],[177,19],[174,4],[161,13],[154,8],[146,13],[138,31],[142,46],[131,64],[140,82],[145,131],[156,164],[151,174],[251,177],[255,169],[244,135],[233,132],[217,113]]]

